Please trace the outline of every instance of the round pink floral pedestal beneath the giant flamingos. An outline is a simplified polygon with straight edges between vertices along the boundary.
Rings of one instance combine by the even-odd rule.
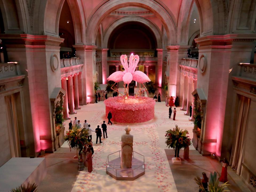
[[[154,118],[155,101],[152,98],[140,97],[140,100],[129,96],[123,103],[123,98],[110,97],[104,101],[106,117],[109,111],[112,119],[118,123],[141,123]]]

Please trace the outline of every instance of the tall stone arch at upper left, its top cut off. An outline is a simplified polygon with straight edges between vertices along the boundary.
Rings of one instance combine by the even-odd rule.
[[[34,7],[34,34],[45,34],[58,37],[59,19],[65,0],[54,0],[47,2],[35,1]],[[85,43],[85,13],[82,2],[79,0],[66,0],[74,25],[75,44]],[[38,12],[37,12],[38,11]]]

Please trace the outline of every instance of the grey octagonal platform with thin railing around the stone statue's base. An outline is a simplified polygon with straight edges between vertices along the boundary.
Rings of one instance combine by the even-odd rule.
[[[117,156],[121,154],[121,151],[117,151],[114,154],[109,155],[108,159],[113,159],[112,156]],[[145,164],[143,162],[144,156],[140,154],[135,153],[135,156],[142,161],[140,161],[137,158],[132,158],[132,166],[131,168],[128,169],[121,169],[120,168],[120,162],[121,162],[121,157],[115,158],[111,161],[106,162],[106,173],[113,177],[116,180],[126,180],[126,181],[133,181],[142,175],[145,174]]]

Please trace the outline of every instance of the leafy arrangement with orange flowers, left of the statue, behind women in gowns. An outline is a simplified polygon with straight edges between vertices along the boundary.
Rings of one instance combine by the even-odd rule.
[[[88,130],[79,128],[78,126],[72,126],[72,129],[66,132],[64,140],[67,141],[70,149],[77,148],[82,149],[83,146],[88,142]]]

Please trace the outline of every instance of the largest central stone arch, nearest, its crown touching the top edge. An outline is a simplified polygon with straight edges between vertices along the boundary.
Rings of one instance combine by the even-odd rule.
[[[168,44],[176,45],[177,31],[176,22],[174,16],[165,9],[163,5],[153,0],[138,0],[136,2],[131,2],[130,0],[113,0],[107,1],[101,7],[99,7],[90,17],[90,22],[87,27],[87,44],[94,45],[96,33],[99,24],[112,11],[126,7],[126,6],[137,6],[148,9],[152,11],[163,23],[166,33],[168,36]]]

